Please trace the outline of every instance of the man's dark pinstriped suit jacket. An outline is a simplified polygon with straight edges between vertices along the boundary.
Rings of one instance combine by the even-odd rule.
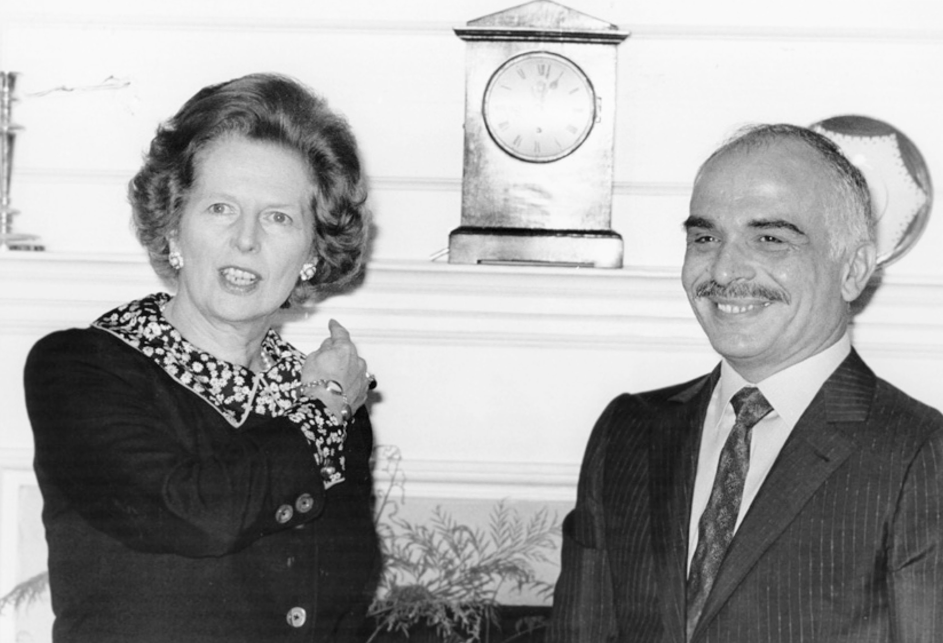
[[[687,533],[720,370],[622,395],[564,522],[548,643],[683,643]],[[852,352],[736,532],[697,643],[943,641],[943,416]]]

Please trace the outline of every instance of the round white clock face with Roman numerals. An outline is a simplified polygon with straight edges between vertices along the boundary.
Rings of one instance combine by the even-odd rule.
[[[549,52],[510,58],[488,81],[482,113],[507,154],[546,163],[583,144],[596,121],[596,94],[571,60]]]

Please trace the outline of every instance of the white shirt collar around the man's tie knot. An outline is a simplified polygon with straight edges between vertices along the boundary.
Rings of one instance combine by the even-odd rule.
[[[745,380],[726,359],[720,363],[720,402],[725,407],[742,387],[758,387],[776,413],[792,429],[802,418],[819,389],[852,352],[846,332],[824,351],[808,357],[759,383]]]

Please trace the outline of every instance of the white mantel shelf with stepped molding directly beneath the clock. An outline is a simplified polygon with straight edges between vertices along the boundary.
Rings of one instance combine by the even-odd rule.
[[[108,307],[166,289],[143,256],[0,254],[0,328],[85,325]],[[292,312],[293,337],[320,332],[298,323],[342,317],[364,341],[450,346],[707,350],[672,268],[617,271],[446,262],[372,262],[364,284]],[[869,351],[943,355],[943,278],[885,275],[854,323]],[[313,335],[312,335],[313,338]]]

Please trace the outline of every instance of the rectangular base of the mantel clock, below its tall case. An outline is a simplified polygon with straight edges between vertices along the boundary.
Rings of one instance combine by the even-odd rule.
[[[449,235],[449,263],[621,268],[611,230],[539,230],[463,225]]]

